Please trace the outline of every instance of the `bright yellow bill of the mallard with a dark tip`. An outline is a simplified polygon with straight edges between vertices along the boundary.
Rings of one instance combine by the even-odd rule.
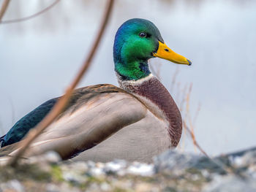
[[[168,61],[172,61],[175,64],[185,64],[185,65],[192,64],[192,62],[189,61],[187,58],[185,58],[182,55],[179,55],[178,53],[175,53],[173,50],[167,47],[165,43],[162,43],[162,42],[159,42],[157,53],[153,53],[153,55],[158,58],[164,58]]]

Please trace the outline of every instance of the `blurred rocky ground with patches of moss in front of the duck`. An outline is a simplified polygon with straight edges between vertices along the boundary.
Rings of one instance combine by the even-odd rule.
[[[56,153],[0,167],[0,191],[256,191],[256,147],[206,158],[167,151],[154,164],[59,162]]]

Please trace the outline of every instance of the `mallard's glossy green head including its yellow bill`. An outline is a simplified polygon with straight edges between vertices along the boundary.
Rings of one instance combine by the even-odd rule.
[[[116,32],[113,47],[115,70],[123,80],[139,80],[148,76],[148,59],[159,57],[176,64],[191,65],[191,61],[173,52],[158,28],[149,20],[127,20]]]

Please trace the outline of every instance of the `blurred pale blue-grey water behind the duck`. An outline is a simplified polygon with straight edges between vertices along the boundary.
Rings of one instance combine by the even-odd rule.
[[[3,20],[32,15],[53,2],[10,1]],[[64,93],[91,48],[106,2],[63,0],[37,18],[0,24],[1,135],[39,104]],[[112,51],[116,30],[130,18],[145,18],[171,49],[192,61],[192,66],[159,58],[150,63],[206,153],[256,145],[256,1],[118,0],[113,8],[79,87],[117,85]],[[178,150],[198,153],[186,131]]]

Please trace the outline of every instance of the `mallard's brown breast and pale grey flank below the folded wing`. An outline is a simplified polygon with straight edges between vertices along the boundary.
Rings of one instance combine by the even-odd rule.
[[[139,85],[135,82],[121,83],[121,88],[137,97],[133,97],[132,102],[135,102],[137,110],[141,108],[143,118],[121,128],[104,142],[78,155],[76,160],[104,162],[116,157],[128,161],[151,161],[154,155],[178,144],[181,137],[181,115],[161,82],[150,75]],[[121,97],[126,98],[127,94]],[[119,110],[126,107],[130,107],[129,102],[122,101]],[[175,125],[171,124],[170,118],[175,120]]]

